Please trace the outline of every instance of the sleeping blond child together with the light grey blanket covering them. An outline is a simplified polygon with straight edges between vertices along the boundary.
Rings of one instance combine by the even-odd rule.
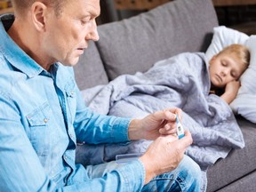
[[[194,140],[187,150],[188,156],[205,168],[224,157],[230,148],[244,146],[227,103],[235,99],[239,77],[249,60],[250,52],[241,44],[229,45],[209,63],[204,52],[184,52],[156,62],[145,73],[118,76],[98,87],[100,90],[85,90],[84,100],[93,111],[115,116],[146,116],[163,108],[181,108],[181,124],[189,129]],[[77,162],[99,164],[115,160],[117,154],[140,154],[149,144],[148,140],[137,140],[121,146],[97,146],[99,150],[95,150],[96,146],[79,146]]]

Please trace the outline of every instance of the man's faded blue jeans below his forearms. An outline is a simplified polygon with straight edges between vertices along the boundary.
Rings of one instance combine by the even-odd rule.
[[[102,177],[106,172],[115,170],[118,166],[125,164],[116,164],[116,162],[109,162],[106,164],[88,165],[86,170],[88,177],[93,179]],[[150,192],[168,192],[168,191],[200,191],[201,184],[201,170],[190,157],[184,156],[179,166],[172,172],[167,172],[159,175],[151,180],[142,188],[142,191]]]

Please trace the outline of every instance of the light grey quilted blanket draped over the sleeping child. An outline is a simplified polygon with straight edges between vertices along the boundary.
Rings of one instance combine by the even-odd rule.
[[[186,153],[206,170],[232,148],[244,148],[235,116],[224,100],[209,94],[210,88],[204,53],[186,52],[157,62],[146,73],[119,76],[82,94],[92,110],[113,116],[139,117],[164,108],[182,108],[183,127],[193,136]],[[128,152],[143,152],[147,146],[148,141],[137,141],[129,144]]]

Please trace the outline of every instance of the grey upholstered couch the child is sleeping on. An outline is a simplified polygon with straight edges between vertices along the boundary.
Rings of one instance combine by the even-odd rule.
[[[121,74],[146,71],[180,52],[205,52],[218,26],[211,0],[176,0],[128,20],[100,25],[100,41],[75,67],[81,90]],[[207,172],[207,191],[256,191],[256,125],[237,116],[245,148],[234,149]]]

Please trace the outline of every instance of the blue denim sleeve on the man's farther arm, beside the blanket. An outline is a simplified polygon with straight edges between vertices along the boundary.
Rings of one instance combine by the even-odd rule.
[[[77,89],[76,119],[74,128],[76,139],[90,144],[116,143],[129,140],[128,126],[131,118],[105,116],[85,107]]]

